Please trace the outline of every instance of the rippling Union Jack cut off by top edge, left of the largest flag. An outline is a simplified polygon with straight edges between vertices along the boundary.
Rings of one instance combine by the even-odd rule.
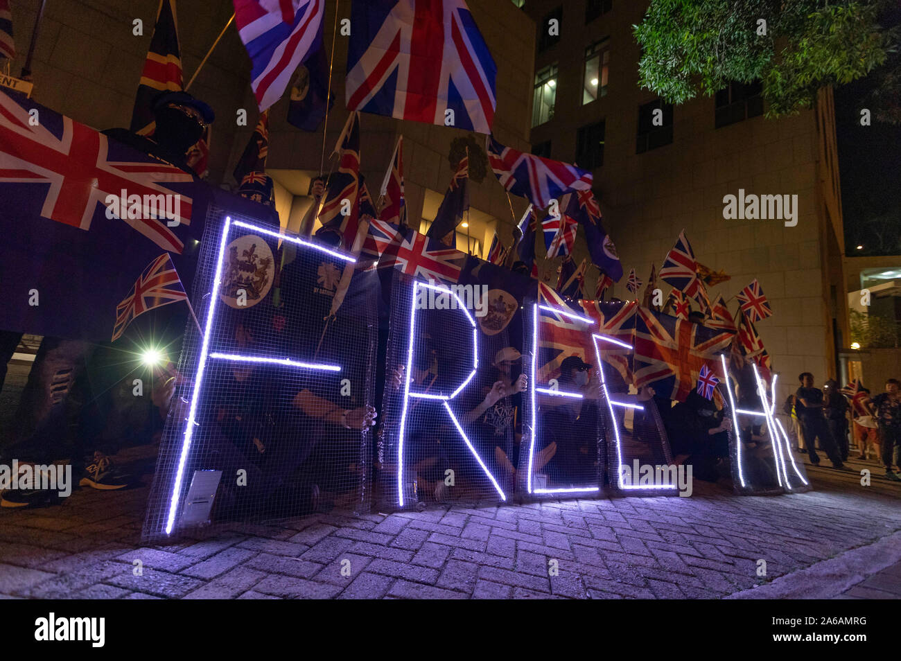
[[[234,0],[260,110],[285,94],[296,68],[322,46],[324,5],[325,0]]]

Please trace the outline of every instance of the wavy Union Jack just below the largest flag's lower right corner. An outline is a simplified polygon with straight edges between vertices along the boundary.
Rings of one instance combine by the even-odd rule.
[[[493,135],[487,138],[487,152],[491,169],[501,186],[514,195],[528,198],[540,209],[565,193],[591,190],[594,182],[587,170],[505,147]]]

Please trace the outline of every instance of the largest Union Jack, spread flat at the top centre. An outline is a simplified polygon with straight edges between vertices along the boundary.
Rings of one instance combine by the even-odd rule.
[[[463,0],[353,0],[350,23],[349,110],[491,131],[497,68]]]

